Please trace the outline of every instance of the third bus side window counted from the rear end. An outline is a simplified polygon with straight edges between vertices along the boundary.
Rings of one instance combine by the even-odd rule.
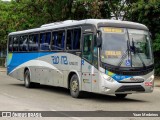
[[[28,51],[28,36],[20,36],[19,39],[19,51]]]

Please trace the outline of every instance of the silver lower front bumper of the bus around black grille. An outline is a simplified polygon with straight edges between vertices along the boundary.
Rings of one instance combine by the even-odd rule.
[[[100,88],[102,94],[151,93],[154,89],[154,80],[147,79],[143,83],[119,83],[103,79]]]

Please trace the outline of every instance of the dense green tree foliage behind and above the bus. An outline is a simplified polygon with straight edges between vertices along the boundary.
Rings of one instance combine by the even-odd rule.
[[[152,33],[156,73],[160,74],[160,0],[0,0],[0,47],[8,33],[68,19],[89,18],[135,21]]]

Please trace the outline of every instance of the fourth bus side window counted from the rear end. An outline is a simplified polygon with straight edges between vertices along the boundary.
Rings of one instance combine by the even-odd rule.
[[[29,51],[38,51],[38,34],[33,34],[29,36],[28,44]]]

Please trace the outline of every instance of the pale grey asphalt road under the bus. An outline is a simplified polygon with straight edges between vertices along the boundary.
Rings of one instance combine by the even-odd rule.
[[[119,100],[114,95],[91,93],[86,94],[82,99],[75,99],[64,88],[40,86],[27,89],[23,82],[7,76],[3,71],[0,72],[0,111],[160,111],[160,87],[155,87],[153,93],[128,95],[124,100]],[[8,120],[8,118],[1,119]],[[17,119],[21,120],[21,118]],[[53,118],[37,118],[37,120],[42,119],[52,120]],[[90,118],[67,115],[54,119],[90,120]],[[99,119],[159,120],[160,118],[101,117]],[[92,120],[97,118],[94,117]]]

